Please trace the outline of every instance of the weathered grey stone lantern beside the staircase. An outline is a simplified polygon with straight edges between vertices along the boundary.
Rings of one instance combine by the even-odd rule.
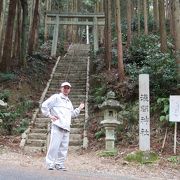
[[[110,91],[107,94],[107,99],[99,106],[104,113],[104,120],[101,124],[106,130],[106,150],[114,150],[114,130],[120,124],[117,120],[118,111],[122,108],[119,101],[115,100],[115,93]]]

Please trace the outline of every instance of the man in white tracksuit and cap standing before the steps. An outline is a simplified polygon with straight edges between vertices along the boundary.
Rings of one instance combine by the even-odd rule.
[[[71,84],[64,82],[60,87],[61,92],[54,94],[42,103],[43,115],[52,121],[50,144],[46,155],[46,164],[49,170],[66,170],[64,162],[67,157],[71,118],[77,117],[84,108],[81,103],[74,109],[68,95]]]

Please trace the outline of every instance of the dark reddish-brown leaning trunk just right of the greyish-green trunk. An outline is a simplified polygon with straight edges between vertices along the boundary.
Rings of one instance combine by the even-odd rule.
[[[36,36],[38,31],[38,21],[39,21],[39,0],[36,0],[31,30],[29,33],[28,54],[32,54],[33,51],[35,50],[35,45],[37,43]]]

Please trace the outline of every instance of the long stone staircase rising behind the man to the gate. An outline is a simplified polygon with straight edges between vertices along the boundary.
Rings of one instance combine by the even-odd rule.
[[[87,119],[87,79],[88,79],[88,45],[71,45],[67,54],[59,58],[51,79],[47,83],[40,104],[58,92],[59,84],[68,81],[72,85],[70,100],[74,108],[80,102],[85,102],[85,109],[81,111],[77,118],[72,119],[69,150],[77,150],[83,146],[86,138],[85,123]],[[50,72],[49,72],[50,73]],[[50,137],[50,119],[43,117],[40,109],[36,109],[30,127],[22,134],[20,146],[27,152],[46,152]],[[86,146],[86,145],[85,145]]]

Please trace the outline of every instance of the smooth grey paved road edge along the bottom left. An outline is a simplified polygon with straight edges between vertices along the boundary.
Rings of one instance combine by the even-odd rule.
[[[98,173],[87,172],[63,172],[47,171],[42,169],[29,169],[10,167],[0,164],[1,180],[135,180],[124,176],[112,176]]]

